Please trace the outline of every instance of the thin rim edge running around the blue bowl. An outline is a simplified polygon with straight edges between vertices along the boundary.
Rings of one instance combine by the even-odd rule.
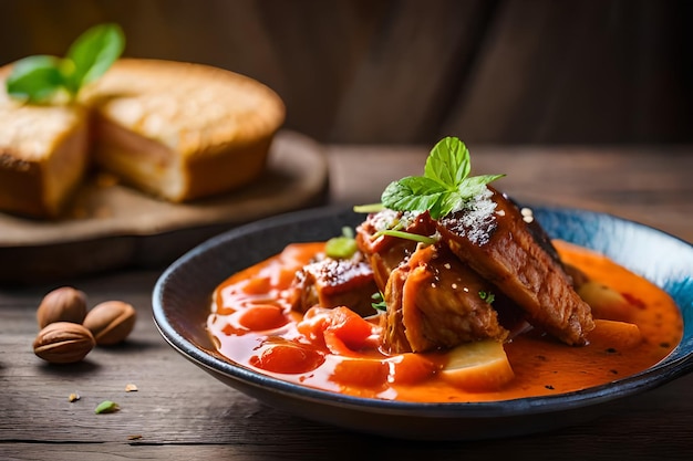
[[[526,206],[531,207],[535,212],[540,213],[556,213],[560,211],[578,218],[597,217],[599,219],[618,221],[639,231],[655,232],[662,238],[678,240],[679,243],[682,243],[689,250],[693,251],[693,245],[691,243],[679,239],[675,235],[647,224],[616,217],[611,213],[535,203],[527,203]],[[172,281],[173,276],[180,270],[180,268],[194,263],[196,259],[206,255],[208,252],[230,244],[235,239],[250,234],[258,230],[281,228],[286,224],[296,223],[297,221],[301,222],[306,220],[328,219],[339,213],[348,213],[349,210],[350,208],[343,206],[327,206],[265,218],[213,237],[183,254],[168,268],[166,268],[166,270],[158,277],[153,290],[152,298],[154,321],[164,339],[185,358],[196,363],[213,375],[221,374],[226,378],[231,378],[232,380],[240,381],[255,388],[272,390],[273,392],[290,396],[292,398],[300,398],[302,400],[321,402],[331,406],[340,406],[343,408],[354,408],[359,410],[368,409],[370,411],[377,411],[379,413],[392,415],[412,415],[413,411],[416,411],[418,416],[433,418],[497,418],[577,409],[640,394],[642,391],[660,387],[693,370],[693,338],[690,338],[691,340],[684,344],[684,335],[681,343],[676,345],[676,347],[665,358],[650,368],[611,383],[575,391],[547,396],[521,397],[516,399],[468,402],[417,402],[386,400],[343,395],[330,390],[301,386],[299,384],[282,380],[278,377],[263,375],[240,364],[235,364],[230,359],[223,360],[216,358],[190,343],[168,322],[163,297],[168,289],[167,284]],[[230,273],[228,275],[230,275]],[[679,306],[679,308],[682,310],[683,307]],[[686,350],[683,350],[684,346],[686,347]]]

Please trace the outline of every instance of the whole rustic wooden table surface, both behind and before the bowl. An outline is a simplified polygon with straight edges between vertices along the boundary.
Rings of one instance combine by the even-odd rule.
[[[328,146],[331,201],[375,201],[392,179],[420,174],[426,148]],[[589,208],[641,221],[693,242],[693,147],[478,147],[474,171],[520,200]],[[11,261],[0,261],[11,264]],[[693,264],[693,261],[692,261]],[[163,268],[130,269],[0,287],[0,459],[691,459],[693,376],[644,394],[589,423],[548,433],[464,443],[389,440],[267,408],[175,353],[152,319]],[[132,303],[126,344],[96,348],[76,365],[35,357],[35,307],[59,284],[90,304]],[[137,391],[126,392],[127,384]],[[79,392],[81,399],[68,397]],[[95,415],[105,399],[115,413]]]

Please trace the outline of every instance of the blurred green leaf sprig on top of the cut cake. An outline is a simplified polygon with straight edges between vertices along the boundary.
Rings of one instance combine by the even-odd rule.
[[[49,103],[60,92],[74,101],[86,84],[113,65],[124,49],[125,35],[120,25],[95,25],[72,43],[65,57],[41,54],[17,61],[6,81],[7,92],[30,104]]]

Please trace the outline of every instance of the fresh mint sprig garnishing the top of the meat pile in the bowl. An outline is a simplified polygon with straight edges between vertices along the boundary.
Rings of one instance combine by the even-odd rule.
[[[381,196],[382,205],[395,211],[426,211],[439,219],[459,211],[484,191],[486,185],[505,175],[469,177],[469,150],[456,137],[439,140],[431,150],[423,176],[407,176],[391,182]]]

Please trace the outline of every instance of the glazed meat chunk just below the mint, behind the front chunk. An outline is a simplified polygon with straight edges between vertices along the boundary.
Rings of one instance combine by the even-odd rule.
[[[403,213],[384,210],[369,214],[356,228],[356,244],[359,250],[366,256],[373,268],[373,276],[377,287],[384,293],[390,273],[401,263],[406,261],[417,242],[391,235],[376,235],[383,229],[394,226],[407,233],[418,235],[432,235],[436,232],[435,222],[428,212]]]

